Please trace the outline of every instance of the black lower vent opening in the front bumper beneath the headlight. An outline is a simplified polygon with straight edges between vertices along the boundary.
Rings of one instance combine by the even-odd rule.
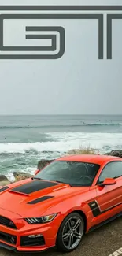
[[[43,236],[39,237],[28,237],[28,236],[21,236],[20,238],[20,246],[21,247],[38,247],[45,245],[45,239]]]

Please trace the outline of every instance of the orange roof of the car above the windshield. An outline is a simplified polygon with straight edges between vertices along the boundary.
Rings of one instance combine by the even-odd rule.
[[[89,163],[94,163],[102,165],[109,161],[122,161],[122,158],[113,157],[109,155],[99,155],[99,154],[79,154],[79,155],[67,155],[62,158],[58,158],[56,161],[84,161]]]

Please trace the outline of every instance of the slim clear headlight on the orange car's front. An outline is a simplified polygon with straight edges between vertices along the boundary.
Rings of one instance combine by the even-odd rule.
[[[57,213],[54,213],[44,217],[28,217],[24,220],[27,221],[28,224],[43,224],[46,222],[53,221],[56,216],[57,216]]]

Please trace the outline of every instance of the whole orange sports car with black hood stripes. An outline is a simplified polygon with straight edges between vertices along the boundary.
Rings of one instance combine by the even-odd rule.
[[[122,159],[77,155],[0,188],[0,247],[70,252],[83,234],[122,215]]]

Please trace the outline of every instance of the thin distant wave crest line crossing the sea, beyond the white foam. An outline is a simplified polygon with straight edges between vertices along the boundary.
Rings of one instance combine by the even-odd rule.
[[[0,129],[3,130],[8,130],[8,129],[35,129],[35,128],[59,128],[59,127],[82,127],[82,126],[120,126],[122,123],[81,123],[81,124],[58,124],[58,125],[39,125],[39,126],[32,126],[32,125],[27,125],[27,126],[0,126]]]

